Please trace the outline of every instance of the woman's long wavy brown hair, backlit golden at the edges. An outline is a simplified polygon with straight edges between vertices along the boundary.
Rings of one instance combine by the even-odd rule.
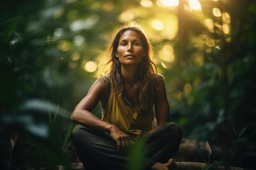
[[[134,22],[132,24],[128,23],[117,31],[106,53],[101,57],[95,77],[104,79],[105,82],[110,81],[115,93],[121,97],[124,90],[123,77],[121,75],[121,63],[115,54],[121,35],[128,30],[135,31],[140,35],[144,51],[146,51],[146,56],[143,56],[139,71],[135,77],[135,94],[138,94],[137,111],[139,113],[148,113],[149,109],[153,108],[157,91],[157,66],[152,60],[154,57],[152,46],[140,26],[134,25]],[[108,79],[106,79],[105,75],[108,75]]]

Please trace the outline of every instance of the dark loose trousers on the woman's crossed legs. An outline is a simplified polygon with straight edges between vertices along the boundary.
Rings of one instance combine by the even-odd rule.
[[[155,132],[143,136],[142,169],[150,170],[157,162],[166,163],[177,153],[182,136],[180,126],[172,122],[165,122]],[[130,158],[119,155],[116,141],[106,133],[78,124],[71,138],[86,170],[126,170]],[[137,143],[132,149],[137,148]]]

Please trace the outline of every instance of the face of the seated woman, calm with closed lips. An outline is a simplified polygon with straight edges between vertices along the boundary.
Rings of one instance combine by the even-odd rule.
[[[119,39],[115,55],[123,65],[138,65],[145,56],[140,35],[132,30],[125,31]]]

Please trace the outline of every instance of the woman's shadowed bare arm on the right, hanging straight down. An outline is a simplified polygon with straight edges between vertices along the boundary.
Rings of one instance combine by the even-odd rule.
[[[157,75],[157,95],[155,97],[155,116],[157,119],[157,126],[148,133],[155,131],[162,126],[164,122],[170,121],[170,106],[166,96],[166,88],[164,84],[164,77]]]

